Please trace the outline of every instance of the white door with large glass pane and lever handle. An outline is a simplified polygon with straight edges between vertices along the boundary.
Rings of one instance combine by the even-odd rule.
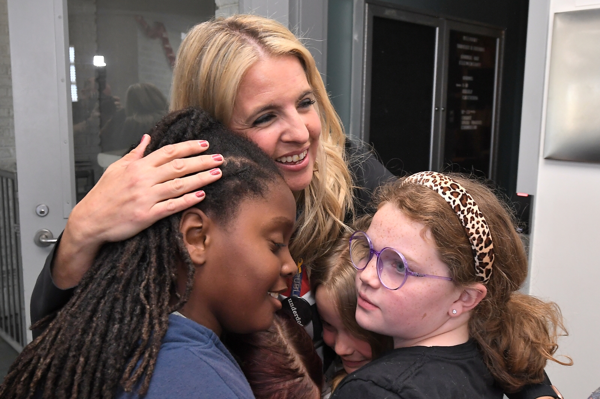
[[[104,168],[167,112],[179,44],[214,13],[213,0],[8,0],[26,326],[52,248],[34,236],[56,238]]]

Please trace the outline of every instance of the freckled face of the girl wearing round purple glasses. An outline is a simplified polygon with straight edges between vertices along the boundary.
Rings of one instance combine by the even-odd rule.
[[[412,271],[450,275],[430,231],[391,203],[380,206],[367,235],[376,251],[385,247],[400,251]],[[356,289],[356,321],[369,331],[394,337],[394,347],[413,346],[445,333],[448,311],[462,292],[451,281],[410,275],[400,289],[389,290],[377,277],[375,256],[356,274]]]

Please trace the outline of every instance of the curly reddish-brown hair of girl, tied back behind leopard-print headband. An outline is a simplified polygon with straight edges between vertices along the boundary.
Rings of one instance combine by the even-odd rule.
[[[566,335],[558,305],[518,292],[527,277],[527,256],[515,229],[511,209],[485,185],[447,173],[473,197],[490,227],[494,265],[486,284],[487,295],[473,309],[469,335],[478,343],[485,364],[505,392],[544,380],[557,339]],[[448,265],[458,286],[478,282],[473,250],[464,227],[448,203],[431,188],[404,179],[382,187],[379,205],[391,203],[407,217],[431,230],[440,259]]]

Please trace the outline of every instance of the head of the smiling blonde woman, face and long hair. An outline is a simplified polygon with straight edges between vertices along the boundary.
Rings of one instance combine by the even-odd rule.
[[[171,109],[202,107],[277,161],[301,211],[292,256],[310,265],[325,254],[352,211],[352,178],[340,120],[298,38],[260,16],[201,23],[179,47],[173,88]],[[380,166],[377,181],[388,176]]]

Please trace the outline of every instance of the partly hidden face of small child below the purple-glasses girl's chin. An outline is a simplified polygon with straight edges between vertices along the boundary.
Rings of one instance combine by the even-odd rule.
[[[346,373],[350,374],[370,362],[373,359],[371,345],[356,338],[344,327],[331,293],[319,286],[315,298],[323,321],[323,341],[340,356]]]

